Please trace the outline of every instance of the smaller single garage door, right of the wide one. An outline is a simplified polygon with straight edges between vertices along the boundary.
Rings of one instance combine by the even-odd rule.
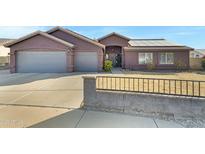
[[[75,71],[94,72],[97,71],[98,57],[97,52],[76,52]]]

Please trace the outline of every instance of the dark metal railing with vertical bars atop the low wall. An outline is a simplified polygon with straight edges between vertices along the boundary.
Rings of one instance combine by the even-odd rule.
[[[97,90],[205,97],[205,81],[97,76]]]

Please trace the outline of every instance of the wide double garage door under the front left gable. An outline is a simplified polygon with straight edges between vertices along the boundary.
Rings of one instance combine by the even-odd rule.
[[[17,52],[19,73],[63,73],[66,72],[66,53],[63,51]]]

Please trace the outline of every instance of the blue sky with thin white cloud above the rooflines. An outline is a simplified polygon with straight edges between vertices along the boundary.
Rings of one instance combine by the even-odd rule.
[[[196,49],[205,48],[205,26],[63,26],[77,33],[97,39],[112,32],[129,38],[165,38]],[[19,38],[31,32],[47,31],[52,26],[1,27],[0,38]]]

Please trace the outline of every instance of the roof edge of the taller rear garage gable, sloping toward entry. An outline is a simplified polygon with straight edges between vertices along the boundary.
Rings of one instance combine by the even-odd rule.
[[[48,30],[47,33],[50,34],[50,33],[55,32],[55,31],[57,31],[57,30],[63,31],[63,32],[65,32],[65,33],[67,33],[67,34],[70,34],[70,35],[73,35],[73,36],[75,36],[75,37],[77,37],[77,38],[79,38],[79,39],[82,39],[82,40],[84,40],[84,41],[87,41],[87,42],[89,42],[89,43],[91,43],[91,44],[94,44],[94,45],[96,45],[96,46],[99,46],[99,47],[101,47],[101,48],[105,48],[105,46],[104,46],[103,44],[99,43],[99,42],[96,42],[96,41],[94,41],[94,40],[92,40],[92,39],[90,39],[90,38],[88,38],[88,37],[86,37],[86,36],[83,36],[83,35],[81,35],[81,34],[78,34],[78,33],[76,33],[76,32],[73,32],[73,31],[71,31],[71,30],[68,30],[68,29],[64,29],[64,28],[59,27],[59,26],[54,27],[54,28]]]

